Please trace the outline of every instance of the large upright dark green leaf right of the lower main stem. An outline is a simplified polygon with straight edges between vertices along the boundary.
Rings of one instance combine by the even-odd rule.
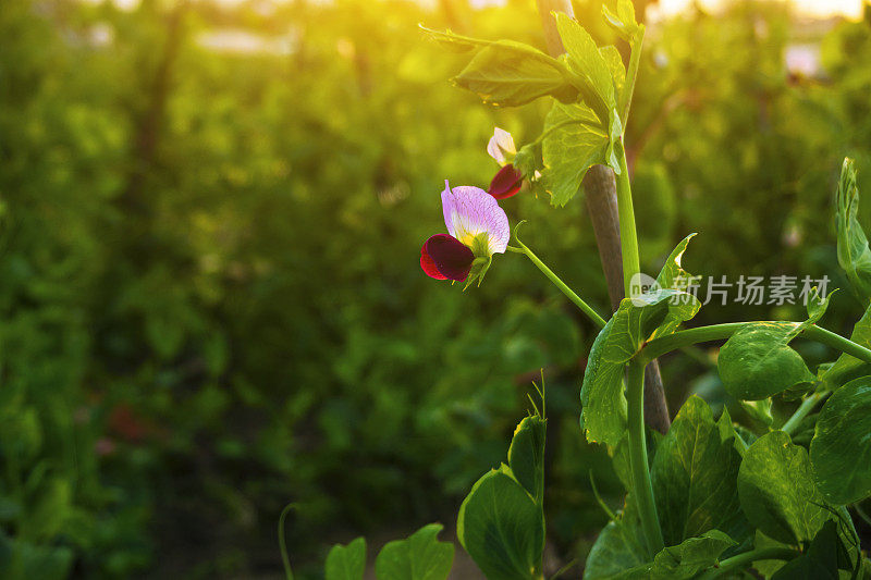
[[[728,414],[714,422],[708,404],[689,397],[657,447],[651,468],[667,545],[714,529],[740,539],[747,528],[738,499],[740,464]]]

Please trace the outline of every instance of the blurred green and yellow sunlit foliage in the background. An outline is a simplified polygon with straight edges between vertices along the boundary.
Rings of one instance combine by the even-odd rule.
[[[4,0],[0,566],[13,578],[274,571],[287,502],[292,558],[318,568],[356,533],[452,530],[541,368],[549,533],[564,553],[589,546],[606,519],[589,470],[619,488],[577,429],[594,329],[520,258],[496,257],[465,294],[417,266],[443,227],[443,180],[486,185],[493,125],[520,145],[548,103],[502,111],[454,89],[461,59],[418,22],[543,45],[519,0]],[[846,287],[831,201],[845,155],[871,190],[871,70],[855,64],[871,30],[825,33],[812,78],[784,66],[787,45],[819,40],[805,29],[758,2],[652,29],[628,129],[645,269],[699,231],[690,271]],[[582,202],[503,206],[604,312]],[[842,293],[827,325],[858,309]],[[689,390],[722,393],[701,358],[665,361],[673,408]]]

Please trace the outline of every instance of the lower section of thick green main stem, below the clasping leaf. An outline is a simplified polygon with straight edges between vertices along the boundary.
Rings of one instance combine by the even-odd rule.
[[[650,482],[650,469],[647,460],[647,442],[645,441],[645,363],[631,361],[628,375],[628,431],[629,465],[633,472],[633,494],[638,502],[641,516],[641,529],[645,532],[649,556],[653,557],[664,546],[660,520],[657,516],[657,504],[653,499],[653,485]]]

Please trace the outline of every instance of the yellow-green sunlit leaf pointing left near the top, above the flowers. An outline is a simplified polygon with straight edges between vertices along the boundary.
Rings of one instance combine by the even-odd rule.
[[[454,78],[484,102],[517,107],[553,95],[573,101],[577,89],[565,66],[528,45],[500,40],[482,47]]]

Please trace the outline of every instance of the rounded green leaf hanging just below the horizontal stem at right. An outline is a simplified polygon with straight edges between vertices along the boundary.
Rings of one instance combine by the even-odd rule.
[[[717,358],[725,390],[738,399],[759,400],[813,381],[801,355],[789,348],[798,332],[794,322],[758,322],[733,334]]]

